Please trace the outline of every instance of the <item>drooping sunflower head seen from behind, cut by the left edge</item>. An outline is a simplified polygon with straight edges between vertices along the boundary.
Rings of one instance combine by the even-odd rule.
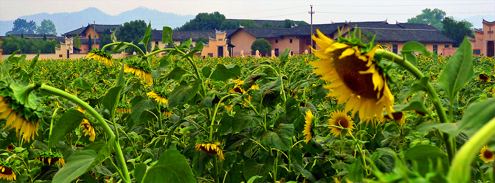
[[[15,132],[27,142],[34,140],[34,134],[38,135],[38,121],[43,113],[32,90],[30,86],[22,87],[7,78],[0,80],[0,119],[7,118],[3,129],[15,127]]]

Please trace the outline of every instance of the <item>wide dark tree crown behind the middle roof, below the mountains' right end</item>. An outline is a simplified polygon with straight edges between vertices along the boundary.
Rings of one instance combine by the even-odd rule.
[[[185,22],[177,30],[211,30],[219,29],[222,22],[225,21],[225,15],[218,11],[213,13],[199,13],[194,19]]]

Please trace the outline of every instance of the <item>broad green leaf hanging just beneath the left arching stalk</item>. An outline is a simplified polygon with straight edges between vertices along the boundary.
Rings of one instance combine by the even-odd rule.
[[[52,132],[48,140],[48,147],[58,144],[60,139],[79,127],[84,118],[86,118],[86,116],[75,109],[66,111],[58,121],[53,124]]]

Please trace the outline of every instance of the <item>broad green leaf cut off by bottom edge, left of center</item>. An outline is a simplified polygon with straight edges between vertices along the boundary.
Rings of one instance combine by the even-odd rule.
[[[142,183],[195,183],[191,167],[183,155],[175,149],[166,150],[157,164],[149,168]]]

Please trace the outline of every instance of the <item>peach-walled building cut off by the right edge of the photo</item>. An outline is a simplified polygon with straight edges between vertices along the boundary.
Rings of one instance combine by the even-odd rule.
[[[483,19],[483,28],[475,28],[475,38],[469,38],[471,47],[473,47],[473,55],[486,57],[495,56],[495,21],[489,22]]]

